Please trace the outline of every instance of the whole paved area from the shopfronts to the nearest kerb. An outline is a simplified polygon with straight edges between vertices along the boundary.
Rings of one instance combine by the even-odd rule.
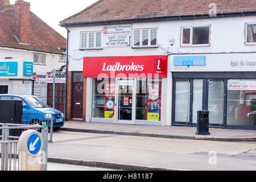
[[[128,171],[256,169],[256,131],[209,131],[67,121],[53,133],[48,162]],[[217,165],[209,165],[212,151]]]

